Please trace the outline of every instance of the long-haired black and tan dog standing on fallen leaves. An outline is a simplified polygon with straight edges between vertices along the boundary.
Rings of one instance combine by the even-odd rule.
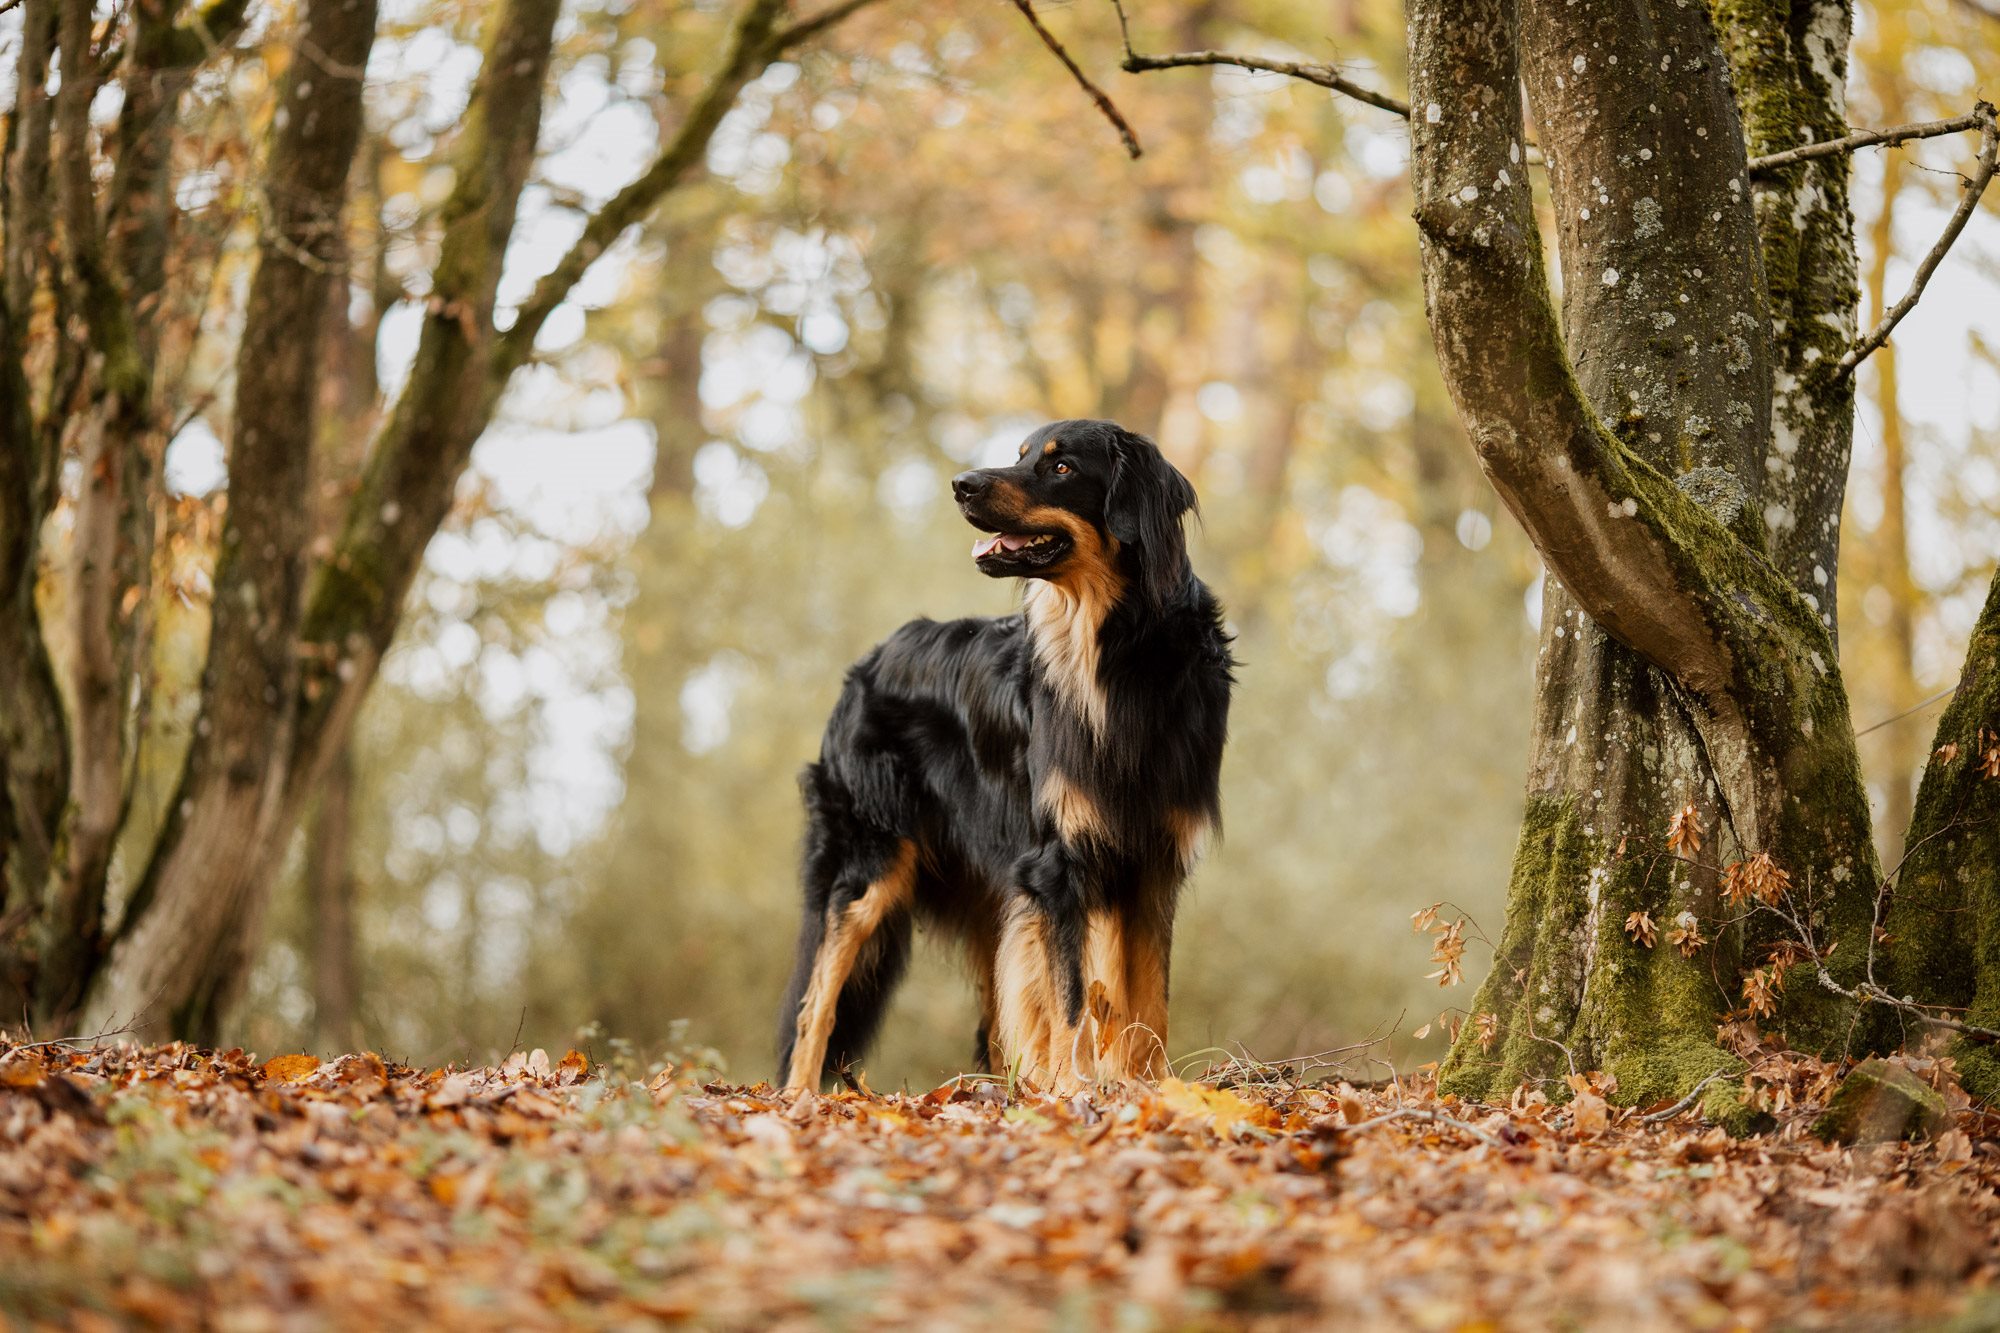
[[[780,1077],[818,1089],[862,1057],[916,923],[966,951],[976,1069],[1064,1093],[1160,1077],[1174,905],[1220,825],[1236,666],[1188,564],[1194,486],[1146,436],[1058,420],[952,494],[1022,610],[912,620],[848,671],[800,777]]]

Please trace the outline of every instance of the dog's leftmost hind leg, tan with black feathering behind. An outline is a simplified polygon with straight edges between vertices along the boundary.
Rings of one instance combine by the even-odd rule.
[[[806,921],[790,989],[798,1001],[784,1061],[786,1087],[816,1089],[828,1049],[846,1061],[874,1035],[910,957],[914,893],[916,843],[900,839],[874,879],[836,883],[824,921]]]

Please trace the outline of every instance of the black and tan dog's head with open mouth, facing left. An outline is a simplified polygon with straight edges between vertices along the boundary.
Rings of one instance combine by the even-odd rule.
[[[1020,446],[1020,460],[952,478],[966,522],[990,532],[972,546],[994,578],[1064,580],[1092,568],[1134,576],[1164,604],[1188,570],[1180,518],[1194,486],[1142,434],[1108,420],[1058,420]]]

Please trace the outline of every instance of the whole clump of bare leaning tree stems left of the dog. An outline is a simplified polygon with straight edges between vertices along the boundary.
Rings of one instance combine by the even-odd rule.
[[[194,737],[174,759],[164,819],[150,819],[134,789],[148,713],[162,703],[150,675],[164,596],[154,534],[170,512],[162,452],[180,406],[162,384],[162,348],[174,342],[164,334],[176,318],[234,318],[226,294],[184,280],[176,250],[200,230],[214,166],[184,118],[204,66],[228,60],[248,4],[146,0],[100,14],[92,0],[22,0],[0,198],[4,1021],[216,1037],[290,833],[346,745],[424,548],[542,324],[628,226],[700,170],[748,80],[864,4],[794,16],[786,0],[748,0],[652,162],[584,216],[578,240],[512,310],[496,292],[534,176],[562,2],[490,6],[484,64],[450,146],[416,356],[358,474],[334,478],[314,474],[314,418],[336,360],[322,346],[326,310],[348,280],[344,210],[376,0],[298,6],[268,132],[246,154],[256,256]],[[98,124],[106,88],[116,118]],[[350,498],[314,550],[310,496],[326,480]],[[62,624],[44,622],[54,608]],[[122,895],[108,893],[114,863]]]

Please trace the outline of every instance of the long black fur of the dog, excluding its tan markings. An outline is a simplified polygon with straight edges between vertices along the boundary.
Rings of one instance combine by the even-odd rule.
[[[1050,440],[1054,452],[1046,452]],[[1140,434],[1104,420],[1062,420],[1030,434],[1014,466],[966,472],[954,490],[986,530],[1018,530],[994,514],[998,494],[1030,512],[1074,514],[1116,538],[1124,592],[1098,632],[1104,727],[1092,731],[1050,681],[1020,612],[912,620],[848,671],[820,759],[800,779],[804,921],[780,1009],[780,1079],[830,913],[890,867],[902,839],[918,847],[912,907],[882,925],[842,989],[826,1057],[832,1069],[860,1059],[880,1029],[908,961],[912,915],[970,949],[992,949],[998,923],[1026,899],[1044,917],[1076,1023],[1088,913],[1136,913],[1170,939],[1186,873],[1170,819],[1184,813],[1220,825],[1234,662],[1222,608],[1188,564],[1182,518],[1196,502],[1188,480]],[[1070,558],[1048,568],[986,558],[980,568],[1062,576]],[[1104,813],[1110,847],[1068,845],[1038,809],[1036,783],[1050,769]],[[984,1031],[976,1057],[984,1067]]]

